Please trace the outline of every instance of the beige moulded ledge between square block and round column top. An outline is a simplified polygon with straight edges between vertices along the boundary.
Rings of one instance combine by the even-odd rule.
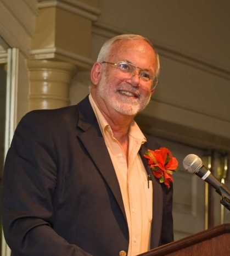
[[[33,55],[34,59],[53,58],[53,54],[59,54],[64,57],[67,57],[69,59],[76,60],[77,62],[86,64],[86,66],[88,66],[89,69],[94,64],[94,61],[92,59],[89,59],[89,58],[83,57],[82,55],[71,53],[71,52],[65,51],[63,49],[56,48],[56,47],[33,49],[30,51],[30,54]],[[49,55],[50,55],[50,57],[49,57]]]

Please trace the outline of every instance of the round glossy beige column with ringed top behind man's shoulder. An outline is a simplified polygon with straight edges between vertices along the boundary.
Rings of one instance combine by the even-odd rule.
[[[30,110],[69,105],[69,88],[76,65],[54,60],[28,60]]]

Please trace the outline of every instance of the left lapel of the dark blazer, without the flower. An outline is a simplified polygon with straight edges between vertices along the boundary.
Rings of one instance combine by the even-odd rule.
[[[114,166],[111,162],[102,132],[100,131],[100,127],[88,98],[85,98],[78,104],[78,113],[79,120],[77,128],[84,131],[78,134],[78,138],[81,140],[86,151],[103,175],[126,219],[125,207],[122,201],[120,186]]]

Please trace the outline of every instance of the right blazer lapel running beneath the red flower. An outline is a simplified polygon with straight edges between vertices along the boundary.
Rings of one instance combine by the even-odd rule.
[[[154,149],[152,149],[154,150]],[[146,143],[144,143],[139,151],[147,174],[151,176],[153,183],[153,220],[151,229],[151,243],[150,248],[158,247],[161,235],[161,225],[162,225],[162,211],[163,211],[163,195],[162,188],[159,180],[153,175],[152,170],[148,164],[147,158],[144,157],[147,151]]]

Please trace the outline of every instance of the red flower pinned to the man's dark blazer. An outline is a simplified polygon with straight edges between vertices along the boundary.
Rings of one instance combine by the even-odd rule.
[[[144,157],[148,159],[148,164],[155,177],[157,177],[160,183],[165,183],[167,188],[170,188],[170,182],[173,182],[173,171],[177,171],[178,161],[175,157],[172,157],[172,153],[167,148],[160,148],[152,151],[148,149],[145,152]]]

